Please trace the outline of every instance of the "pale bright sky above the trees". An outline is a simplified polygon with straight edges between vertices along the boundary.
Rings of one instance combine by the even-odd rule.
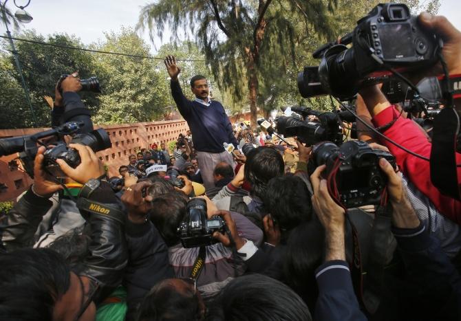
[[[3,0],[0,0],[3,3]],[[28,0],[17,0],[18,5]],[[31,23],[23,25],[23,30],[35,29],[40,34],[65,32],[74,34],[85,44],[103,40],[104,32],[118,32],[120,27],[134,27],[138,22],[140,9],[153,0],[31,0],[25,9],[34,18]],[[461,0],[440,0],[439,14],[447,16],[449,21],[461,30]],[[13,0],[7,7],[16,12]],[[0,34],[6,31],[0,25]],[[164,32],[163,40],[156,38],[151,43],[147,32],[140,34],[151,45],[151,53],[156,48],[169,42],[171,34]]]

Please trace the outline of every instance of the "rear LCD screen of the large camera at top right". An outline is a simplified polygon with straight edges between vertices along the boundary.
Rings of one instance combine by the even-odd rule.
[[[389,23],[379,28],[379,38],[385,59],[406,58],[415,56],[411,42],[409,23]]]

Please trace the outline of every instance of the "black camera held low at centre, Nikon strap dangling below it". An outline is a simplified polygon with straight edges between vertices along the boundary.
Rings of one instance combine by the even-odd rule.
[[[208,246],[218,242],[213,239],[214,232],[226,233],[225,225],[217,215],[207,218],[204,199],[191,199],[186,206],[186,217],[178,227],[178,235],[183,247]]]

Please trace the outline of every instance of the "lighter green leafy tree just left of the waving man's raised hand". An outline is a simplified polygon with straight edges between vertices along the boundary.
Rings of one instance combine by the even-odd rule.
[[[97,49],[107,52],[149,56],[149,47],[131,29],[108,33]],[[97,69],[103,71],[103,95],[95,122],[149,122],[161,118],[169,105],[167,81],[148,58],[95,54]]]

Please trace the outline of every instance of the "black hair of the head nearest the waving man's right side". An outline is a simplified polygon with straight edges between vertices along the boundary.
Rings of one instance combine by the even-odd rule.
[[[245,179],[251,185],[251,195],[263,198],[268,181],[283,175],[285,164],[280,153],[273,148],[258,147],[246,156]]]

